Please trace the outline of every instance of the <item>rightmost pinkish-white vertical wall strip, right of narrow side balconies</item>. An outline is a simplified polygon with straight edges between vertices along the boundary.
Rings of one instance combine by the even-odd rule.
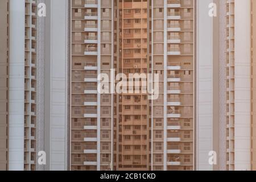
[[[250,1],[234,2],[234,163],[235,170],[250,170]]]

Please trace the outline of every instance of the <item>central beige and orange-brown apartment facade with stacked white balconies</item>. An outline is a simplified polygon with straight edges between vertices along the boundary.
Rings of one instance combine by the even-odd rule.
[[[71,169],[195,168],[194,5],[72,1]],[[113,68],[159,73],[158,100],[98,93]]]

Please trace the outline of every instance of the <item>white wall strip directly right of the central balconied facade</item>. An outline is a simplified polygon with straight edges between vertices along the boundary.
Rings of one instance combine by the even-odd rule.
[[[213,150],[213,18],[212,0],[197,1],[196,59],[196,166],[212,170],[209,151]]]

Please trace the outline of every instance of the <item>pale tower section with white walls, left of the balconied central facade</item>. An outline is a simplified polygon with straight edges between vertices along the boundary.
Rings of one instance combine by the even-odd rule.
[[[68,169],[66,2],[1,1],[1,170]]]

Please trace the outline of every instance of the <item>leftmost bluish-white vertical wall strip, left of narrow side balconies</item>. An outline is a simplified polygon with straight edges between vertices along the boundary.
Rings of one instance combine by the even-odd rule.
[[[9,170],[24,169],[25,0],[10,0]]]

